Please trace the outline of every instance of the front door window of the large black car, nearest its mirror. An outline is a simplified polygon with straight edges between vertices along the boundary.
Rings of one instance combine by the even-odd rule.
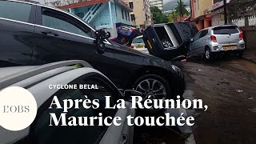
[[[74,18],[55,10],[42,8],[42,26],[91,37],[89,28],[79,26],[76,22],[74,22]]]

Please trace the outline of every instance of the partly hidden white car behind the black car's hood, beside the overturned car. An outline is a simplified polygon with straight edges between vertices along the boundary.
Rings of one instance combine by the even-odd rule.
[[[149,50],[147,50],[143,41],[143,35],[134,38],[134,41],[131,42],[130,48],[141,51],[142,53],[149,54]]]

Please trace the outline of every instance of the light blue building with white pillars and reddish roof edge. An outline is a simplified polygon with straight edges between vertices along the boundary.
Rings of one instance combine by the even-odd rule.
[[[117,36],[119,26],[131,26],[132,9],[122,0],[45,0],[45,3],[77,15],[97,30],[108,29],[112,38]]]

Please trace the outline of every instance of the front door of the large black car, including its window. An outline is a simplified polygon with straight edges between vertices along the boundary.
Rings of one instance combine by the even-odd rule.
[[[37,11],[33,54],[35,64],[79,59],[109,75],[113,70],[111,68],[114,68],[114,56],[109,49],[104,54],[97,53],[94,30],[90,26],[62,10],[38,6]]]

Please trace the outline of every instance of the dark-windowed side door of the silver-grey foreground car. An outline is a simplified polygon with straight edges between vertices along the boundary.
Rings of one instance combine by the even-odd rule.
[[[62,83],[63,85],[66,83]],[[75,90],[58,90],[58,92],[52,95],[40,108],[38,109],[38,115],[30,128],[30,135],[33,139],[33,143],[44,144],[44,143],[85,143],[93,144],[99,142],[105,143],[122,143],[123,135],[130,138],[130,129],[125,129],[125,122],[122,122],[121,126],[100,126],[98,121],[94,122],[94,126],[49,126],[50,125],[50,114],[56,114],[58,117],[63,113],[62,109],[57,109],[56,106],[52,106],[53,109],[49,109],[54,96],[58,97],[60,105],[63,106],[63,100],[70,99],[76,100],[81,99],[85,101],[90,99],[93,101],[98,99],[99,107],[94,109],[93,107],[84,108],[83,105],[79,105],[79,108],[72,107],[66,113],[66,117],[74,116],[78,117],[99,117],[102,114],[102,118],[110,117],[114,118],[120,116],[123,121],[126,121],[126,116],[129,110],[117,110],[117,109],[105,109],[106,97],[110,96],[110,106],[116,104],[116,100],[121,98],[121,93],[118,89],[105,77],[100,74],[86,74],[74,82],[70,82],[70,85],[86,85],[86,86],[98,86],[98,89],[75,89]],[[87,98],[86,98],[86,97]],[[134,116],[134,115],[132,115]],[[68,119],[66,119],[68,120]],[[86,121],[83,121],[86,122]],[[90,123],[88,120],[87,122]],[[107,122],[111,122],[110,119]],[[91,123],[92,124],[92,123]],[[115,138],[110,137],[110,131],[115,133]],[[109,136],[109,137],[106,137]],[[105,139],[106,138],[106,139]],[[125,139],[124,139],[125,140]]]

